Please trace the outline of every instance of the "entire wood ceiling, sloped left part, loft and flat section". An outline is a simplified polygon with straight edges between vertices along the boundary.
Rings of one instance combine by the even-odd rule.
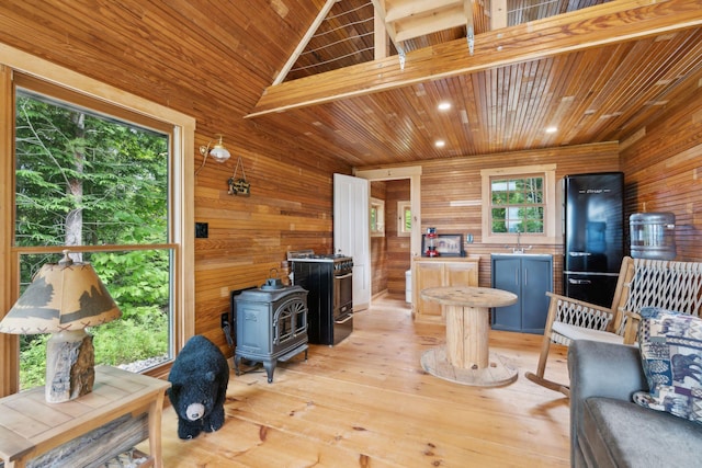
[[[92,3],[0,2],[0,42],[195,115],[199,140],[330,167],[626,141],[702,83],[702,0]]]

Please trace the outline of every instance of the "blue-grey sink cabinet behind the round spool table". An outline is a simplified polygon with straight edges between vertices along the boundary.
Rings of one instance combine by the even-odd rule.
[[[491,255],[492,287],[514,293],[516,304],[492,309],[494,330],[543,334],[553,290],[553,256]]]

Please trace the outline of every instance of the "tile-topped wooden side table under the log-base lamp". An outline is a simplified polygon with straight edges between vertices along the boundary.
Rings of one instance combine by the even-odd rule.
[[[148,418],[149,458],[160,468],[161,413],[163,397],[170,383],[134,374],[116,367],[95,367],[93,391],[64,403],[48,403],[44,387],[0,399],[0,459],[5,468],[24,467],[27,461],[70,443],[123,416],[145,414]],[[140,442],[145,437],[136,433]],[[118,441],[117,441],[118,440]],[[128,441],[132,442],[132,441]],[[94,445],[82,446],[81,460],[115,456],[123,437],[102,437]],[[111,445],[112,444],[112,445]],[[111,453],[116,450],[117,453]],[[82,466],[76,460],[75,466]]]

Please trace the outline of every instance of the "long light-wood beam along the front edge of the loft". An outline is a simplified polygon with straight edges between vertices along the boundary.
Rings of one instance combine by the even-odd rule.
[[[614,0],[395,57],[269,87],[247,117],[466,75],[702,25],[702,0]]]

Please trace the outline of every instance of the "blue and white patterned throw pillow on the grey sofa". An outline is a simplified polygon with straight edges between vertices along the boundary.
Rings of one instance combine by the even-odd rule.
[[[672,310],[641,309],[638,330],[650,393],[637,391],[642,407],[702,424],[702,319]]]

